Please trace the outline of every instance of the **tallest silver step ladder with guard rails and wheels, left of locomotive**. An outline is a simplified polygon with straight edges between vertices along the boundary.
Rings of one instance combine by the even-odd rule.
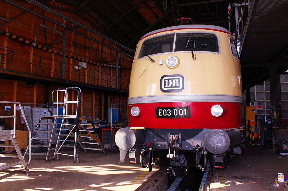
[[[72,92],[72,95],[68,96],[68,93],[70,94]],[[76,100],[73,100],[74,98],[74,92],[77,93]],[[72,100],[69,100],[71,99]],[[81,89],[80,88],[66,88],[65,94],[64,94],[64,102],[63,102],[63,115],[62,115],[62,122],[59,133],[57,134],[57,143],[56,148],[54,152],[53,159],[57,157],[59,160],[59,155],[65,155],[65,156],[73,156],[73,162],[75,163],[76,160],[79,163],[80,159],[76,151],[80,150],[77,148],[77,143],[84,149],[84,146],[81,144],[81,142],[77,139],[78,137],[78,130],[79,130],[79,111],[80,111],[80,102],[81,102]],[[76,114],[73,112],[73,108],[76,105]],[[69,109],[68,109],[69,106]],[[70,124],[68,120],[74,119],[74,124]],[[63,147],[73,147],[74,148],[74,154],[67,154],[60,152],[60,150]],[[84,149],[85,152],[86,149]]]

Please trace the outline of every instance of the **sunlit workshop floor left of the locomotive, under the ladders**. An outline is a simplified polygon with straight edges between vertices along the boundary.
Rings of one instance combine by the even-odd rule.
[[[45,162],[44,156],[32,156],[29,176],[21,166],[0,172],[0,190],[131,190],[139,179],[149,174],[139,161],[137,164],[128,163],[127,156],[125,163],[120,165],[119,152],[104,155],[97,151],[81,151],[79,158],[80,163],[73,163],[73,157],[60,155],[59,160]],[[17,160],[0,158],[0,165],[8,161]],[[158,169],[154,167],[153,171]]]

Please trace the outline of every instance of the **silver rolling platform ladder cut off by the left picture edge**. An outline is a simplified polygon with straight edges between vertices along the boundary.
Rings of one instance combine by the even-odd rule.
[[[0,121],[1,121],[1,125],[3,125],[2,128],[4,128],[3,130],[0,130],[0,141],[12,141],[13,145],[7,145],[7,144],[1,144],[0,147],[14,147],[15,151],[17,153],[17,155],[12,155],[12,154],[2,154],[0,153],[0,157],[8,157],[8,158],[18,158],[19,161],[18,162],[12,162],[12,163],[6,163],[2,166],[0,166],[0,170],[3,169],[8,169],[12,166],[16,166],[16,165],[22,165],[24,170],[26,171],[26,176],[29,175],[29,169],[28,169],[28,164],[31,161],[31,130],[30,127],[28,125],[27,119],[25,117],[24,114],[24,109],[21,106],[21,104],[19,102],[7,102],[7,101],[0,101],[1,104],[1,109],[0,109]],[[4,105],[4,106],[3,106]],[[17,121],[16,121],[16,107],[18,108],[17,110],[21,111],[21,114],[19,114],[19,116],[17,115]],[[10,112],[13,112],[12,114],[10,114]],[[18,121],[19,120],[19,121]],[[17,144],[16,141],[16,124],[17,126],[20,126],[21,123],[23,122],[26,124],[27,129],[29,131],[29,160],[28,162],[25,162],[24,157],[22,156],[22,153],[19,149],[19,146]],[[13,129],[12,129],[13,127]],[[8,129],[8,130],[5,130]],[[6,162],[6,161],[5,161]]]

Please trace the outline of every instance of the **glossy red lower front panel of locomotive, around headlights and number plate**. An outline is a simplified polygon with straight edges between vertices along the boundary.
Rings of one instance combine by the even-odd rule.
[[[220,117],[211,114],[211,107],[221,105],[224,109]],[[133,106],[140,109],[137,117],[131,115]],[[190,107],[190,117],[156,118],[156,107]],[[129,127],[168,129],[231,129],[243,126],[242,103],[234,102],[164,102],[129,105]]]

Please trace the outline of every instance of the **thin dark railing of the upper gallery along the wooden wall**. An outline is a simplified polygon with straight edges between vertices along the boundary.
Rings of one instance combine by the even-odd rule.
[[[57,56],[59,59],[55,59]],[[62,60],[61,55],[55,55],[52,59],[0,45],[0,69],[62,79],[62,61],[60,60]],[[75,59],[74,62],[75,64],[65,62],[65,80],[128,90],[129,79],[112,75],[109,68],[101,68],[106,71],[98,71],[97,65],[91,64],[90,67],[95,68],[91,69],[77,65],[79,60]]]

